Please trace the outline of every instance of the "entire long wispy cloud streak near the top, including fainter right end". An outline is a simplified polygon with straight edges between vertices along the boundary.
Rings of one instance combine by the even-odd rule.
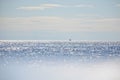
[[[94,8],[94,5],[90,4],[79,4],[79,5],[61,5],[61,4],[41,4],[39,6],[21,6],[17,9],[21,10],[45,10],[45,9],[51,9],[51,8],[60,8],[60,7],[76,7],[76,8]]]

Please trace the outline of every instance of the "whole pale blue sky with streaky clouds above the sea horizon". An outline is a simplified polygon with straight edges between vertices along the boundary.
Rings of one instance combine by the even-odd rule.
[[[0,0],[0,40],[120,40],[120,0]]]

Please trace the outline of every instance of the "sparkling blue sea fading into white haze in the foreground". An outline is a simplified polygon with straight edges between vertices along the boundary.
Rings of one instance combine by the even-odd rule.
[[[120,80],[119,41],[0,41],[0,80]]]

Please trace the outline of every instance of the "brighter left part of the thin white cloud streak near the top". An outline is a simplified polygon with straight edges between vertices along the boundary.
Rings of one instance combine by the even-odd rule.
[[[40,6],[22,6],[18,7],[17,9],[22,10],[44,10],[49,8],[57,8],[57,7],[63,7],[60,4],[41,4]]]

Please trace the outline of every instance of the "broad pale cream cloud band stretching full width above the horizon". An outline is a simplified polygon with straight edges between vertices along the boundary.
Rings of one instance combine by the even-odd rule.
[[[0,18],[3,29],[53,31],[120,31],[120,18],[64,18],[56,16]]]

